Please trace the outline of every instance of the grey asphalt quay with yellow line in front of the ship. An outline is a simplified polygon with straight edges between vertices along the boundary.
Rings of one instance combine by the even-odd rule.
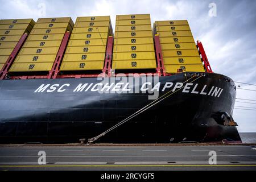
[[[256,146],[0,146],[0,170],[256,171]]]

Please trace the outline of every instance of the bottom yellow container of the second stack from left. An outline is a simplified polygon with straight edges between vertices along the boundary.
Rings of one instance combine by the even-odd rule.
[[[51,71],[53,63],[14,63],[9,72]]]

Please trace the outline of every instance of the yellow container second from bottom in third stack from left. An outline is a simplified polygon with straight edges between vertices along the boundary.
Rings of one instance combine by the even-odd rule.
[[[63,62],[70,61],[104,61],[105,53],[72,53],[65,54]]]

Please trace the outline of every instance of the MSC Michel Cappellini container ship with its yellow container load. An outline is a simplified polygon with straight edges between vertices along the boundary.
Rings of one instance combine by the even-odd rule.
[[[0,20],[0,143],[241,142],[236,85],[187,20]]]

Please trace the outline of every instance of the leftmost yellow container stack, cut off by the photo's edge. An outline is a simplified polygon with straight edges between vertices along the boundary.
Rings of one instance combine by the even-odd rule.
[[[24,33],[30,33],[35,25],[33,19],[0,20],[0,70]]]

